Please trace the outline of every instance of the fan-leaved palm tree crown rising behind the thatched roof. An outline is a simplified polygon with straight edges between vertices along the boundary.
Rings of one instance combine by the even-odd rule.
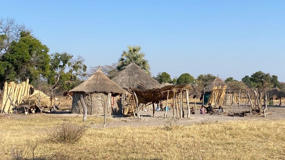
[[[118,62],[117,69],[118,71],[124,70],[132,61],[142,68],[148,74],[150,72],[150,65],[148,64],[148,60],[145,59],[145,54],[140,52],[142,48],[140,46],[128,46],[127,51],[123,51],[121,57]]]

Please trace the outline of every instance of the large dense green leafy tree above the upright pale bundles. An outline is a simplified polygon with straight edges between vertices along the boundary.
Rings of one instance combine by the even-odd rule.
[[[0,79],[8,81],[26,81],[31,84],[49,73],[49,48],[30,32],[21,32],[19,41],[12,41],[8,52],[1,56]],[[4,71],[4,74],[3,74]]]

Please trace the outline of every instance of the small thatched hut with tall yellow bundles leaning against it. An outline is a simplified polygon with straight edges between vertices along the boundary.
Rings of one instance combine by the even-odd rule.
[[[215,99],[217,105],[221,104],[230,105],[231,103],[232,104],[235,103],[236,97],[234,97],[233,90],[229,86],[227,86],[227,84],[225,84],[219,78],[219,76],[214,81],[212,81],[208,86],[206,86],[205,90],[202,89],[201,92],[202,95],[200,99],[204,97],[204,105],[208,105],[209,103],[214,104]],[[213,97],[214,93],[215,93],[215,98]]]

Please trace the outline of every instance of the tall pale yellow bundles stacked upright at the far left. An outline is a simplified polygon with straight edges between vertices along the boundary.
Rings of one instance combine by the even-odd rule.
[[[11,105],[10,99],[14,105],[19,105],[22,103],[23,96],[29,96],[31,91],[34,91],[33,89],[33,86],[29,84],[29,79],[19,84],[15,82],[5,82],[0,113],[13,113],[13,106]]]

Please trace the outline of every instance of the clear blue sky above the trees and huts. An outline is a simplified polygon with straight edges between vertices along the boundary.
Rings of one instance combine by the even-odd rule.
[[[211,73],[241,80],[256,71],[285,81],[285,1],[5,1],[0,17],[31,28],[50,53],[116,63],[139,45],[151,73]]]

